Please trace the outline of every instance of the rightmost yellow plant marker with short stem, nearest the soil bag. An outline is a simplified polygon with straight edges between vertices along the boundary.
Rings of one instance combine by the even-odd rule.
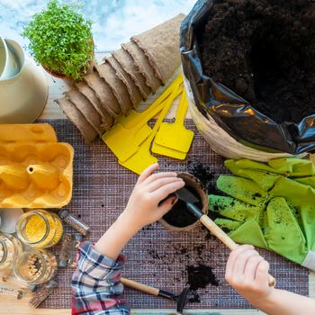
[[[178,159],[186,157],[193,142],[193,131],[184,127],[184,116],[187,112],[188,103],[183,91],[178,105],[174,123],[163,122],[157,132],[152,146],[152,152]]]

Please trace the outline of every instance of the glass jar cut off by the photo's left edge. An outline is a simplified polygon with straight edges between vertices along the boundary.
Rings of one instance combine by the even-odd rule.
[[[14,259],[23,250],[19,239],[13,235],[0,233],[0,272],[12,269]]]

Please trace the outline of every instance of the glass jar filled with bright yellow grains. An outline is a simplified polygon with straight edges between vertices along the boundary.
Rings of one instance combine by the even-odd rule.
[[[56,245],[63,233],[56,213],[34,210],[24,213],[16,223],[16,234],[29,247],[48,248]]]

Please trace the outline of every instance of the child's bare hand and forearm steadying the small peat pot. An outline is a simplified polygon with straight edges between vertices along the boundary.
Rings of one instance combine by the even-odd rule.
[[[126,209],[95,243],[97,252],[116,260],[121,249],[139,229],[160,219],[172,208],[177,198],[166,197],[184,187],[184,181],[176,173],[152,175],[157,168],[158,165],[154,164],[139,175]]]

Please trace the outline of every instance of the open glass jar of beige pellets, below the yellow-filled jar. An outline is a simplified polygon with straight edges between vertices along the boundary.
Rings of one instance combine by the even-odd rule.
[[[24,251],[14,261],[14,275],[23,284],[44,284],[57,272],[57,258],[43,249]]]

